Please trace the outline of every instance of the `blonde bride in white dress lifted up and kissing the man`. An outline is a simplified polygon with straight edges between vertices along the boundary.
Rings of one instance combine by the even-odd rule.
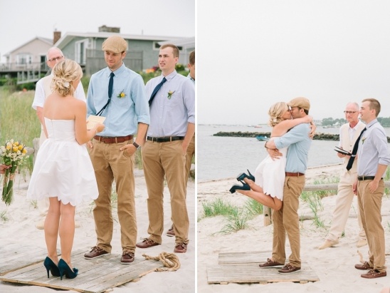
[[[268,125],[272,126],[270,140],[284,135],[288,130],[300,123],[312,122],[312,116],[310,115],[305,116],[305,118],[291,119],[290,108],[284,102],[273,104],[270,110],[268,110],[268,115],[270,115]],[[273,160],[267,155],[260,162],[255,170],[255,182],[248,178],[243,179],[251,187],[251,190],[236,189],[237,192],[251,197],[253,200],[257,200],[273,210],[280,210],[283,203],[285,163],[288,148],[280,149],[279,152],[282,153],[282,156],[278,160]]]

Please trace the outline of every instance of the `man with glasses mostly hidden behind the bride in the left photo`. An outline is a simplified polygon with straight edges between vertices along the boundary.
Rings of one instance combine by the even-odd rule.
[[[48,53],[46,54],[46,64],[49,68],[53,69],[54,66],[60,61],[63,61],[63,52],[56,47],[52,47],[48,49]],[[51,90],[51,81],[53,80],[53,74],[51,73],[49,76],[45,76],[41,78],[36,83],[35,96],[33,100],[33,109],[36,110],[36,115],[38,116],[39,121],[41,122],[41,137],[39,138],[39,146],[46,140],[45,132],[43,131],[43,104],[45,103],[46,98],[52,93]],[[74,93],[75,98],[81,101],[85,100],[84,88],[81,83],[78,83],[78,87]],[[48,214],[49,200],[48,198],[43,200],[38,200],[37,202],[39,214],[41,219],[36,223],[37,229],[43,229],[45,225],[46,215]],[[75,222],[75,227],[78,228],[80,225],[78,222]]]

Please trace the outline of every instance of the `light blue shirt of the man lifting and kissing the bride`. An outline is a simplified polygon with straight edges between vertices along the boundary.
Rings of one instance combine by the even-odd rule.
[[[291,128],[288,133],[285,133],[285,135],[280,138],[275,138],[274,142],[276,148],[288,147],[285,172],[306,172],[307,155],[309,155],[310,145],[312,144],[309,133],[310,124],[302,123]]]

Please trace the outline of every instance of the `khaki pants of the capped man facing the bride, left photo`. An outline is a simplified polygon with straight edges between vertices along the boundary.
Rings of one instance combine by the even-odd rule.
[[[95,169],[99,197],[95,200],[93,217],[97,235],[97,246],[111,252],[114,222],[111,214],[112,182],[117,192],[117,213],[120,222],[122,250],[135,252],[137,241],[137,217],[135,213],[135,155],[120,151],[123,145],[132,143],[102,143],[93,140],[90,158]]]

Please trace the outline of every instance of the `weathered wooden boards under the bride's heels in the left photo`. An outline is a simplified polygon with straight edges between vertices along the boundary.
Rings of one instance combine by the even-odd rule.
[[[29,251],[29,255],[33,255]],[[85,251],[75,251],[72,254],[72,262],[78,268],[79,273],[75,279],[63,277],[47,277],[46,269],[43,267],[45,254],[38,262],[30,262],[29,265],[13,269],[11,272],[0,277],[4,282],[15,282],[21,284],[32,284],[56,289],[75,290],[85,293],[100,293],[107,289],[120,286],[130,281],[138,281],[140,277],[149,272],[154,272],[163,264],[155,260],[145,260],[143,257],[136,257],[132,264],[121,264],[120,255],[104,255],[97,259],[84,259]],[[18,258],[14,262],[19,262]]]

